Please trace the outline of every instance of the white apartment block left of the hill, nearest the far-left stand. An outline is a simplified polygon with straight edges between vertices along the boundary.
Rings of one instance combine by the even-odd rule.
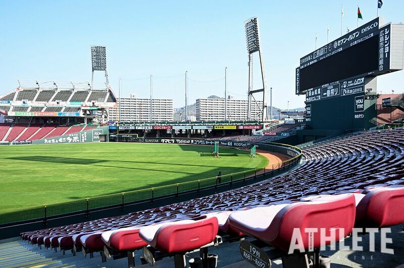
[[[117,108],[110,109],[108,121],[118,121],[119,98]],[[173,121],[173,100],[152,99],[153,122]],[[150,99],[147,98],[121,98],[121,122],[148,122],[150,121]]]

